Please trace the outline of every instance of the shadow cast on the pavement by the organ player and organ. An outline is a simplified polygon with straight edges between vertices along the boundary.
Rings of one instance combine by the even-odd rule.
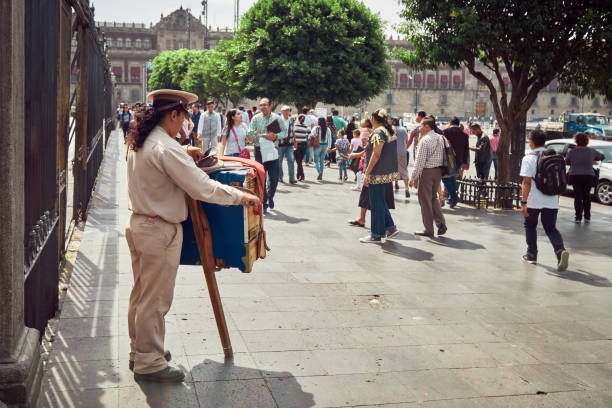
[[[205,359],[192,367],[194,382],[158,384],[140,382],[149,407],[313,407],[314,395],[302,390],[290,372],[265,371]],[[193,401],[195,388],[197,401]],[[191,397],[191,400],[190,400]]]

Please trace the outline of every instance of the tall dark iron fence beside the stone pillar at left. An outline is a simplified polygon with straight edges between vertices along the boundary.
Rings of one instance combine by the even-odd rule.
[[[66,226],[84,218],[105,135],[113,128],[114,92],[89,2],[25,3],[25,324],[44,333],[57,310]],[[71,92],[73,74],[77,83]],[[69,160],[73,197],[68,194]]]

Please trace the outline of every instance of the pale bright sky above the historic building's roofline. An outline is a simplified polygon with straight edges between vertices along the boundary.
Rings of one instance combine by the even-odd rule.
[[[91,0],[95,6],[96,21],[116,21],[125,23],[157,23],[160,15],[170,14],[172,11],[190,8],[191,13],[198,17],[202,12],[201,0]],[[240,14],[244,14],[256,0],[240,0]],[[392,25],[400,22],[397,0],[363,0],[365,5],[374,13],[380,13],[383,21],[387,22],[385,32],[396,36]],[[208,24],[213,27],[234,26],[233,0],[208,0]]]

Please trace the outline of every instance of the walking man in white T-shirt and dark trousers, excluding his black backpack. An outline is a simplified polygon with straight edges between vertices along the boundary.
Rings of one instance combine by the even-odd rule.
[[[538,259],[538,217],[542,214],[542,226],[552,244],[555,255],[557,256],[557,270],[567,269],[569,253],[563,245],[563,237],[557,230],[557,213],[559,212],[559,196],[546,195],[536,186],[533,178],[538,171],[537,152],[546,150],[544,143],[546,135],[541,130],[534,130],[529,136],[529,147],[533,154],[523,157],[521,163],[522,201],[521,209],[525,217],[525,236],[527,239],[527,253],[523,255],[523,260],[530,264],[536,264]]]

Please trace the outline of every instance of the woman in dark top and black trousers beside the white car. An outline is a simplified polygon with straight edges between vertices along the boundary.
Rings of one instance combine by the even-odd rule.
[[[565,159],[570,166],[569,183],[574,187],[574,211],[576,218],[574,222],[591,222],[591,189],[597,184],[593,162],[605,159],[604,155],[597,150],[587,147],[589,136],[586,133],[576,133],[574,135],[576,148],[572,149]]]

